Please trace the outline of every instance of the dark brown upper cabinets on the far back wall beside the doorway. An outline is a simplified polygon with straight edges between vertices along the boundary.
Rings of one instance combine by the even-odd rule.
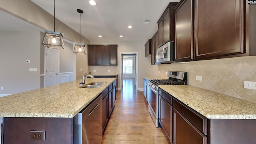
[[[88,44],[88,66],[117,65],[118,45]]]

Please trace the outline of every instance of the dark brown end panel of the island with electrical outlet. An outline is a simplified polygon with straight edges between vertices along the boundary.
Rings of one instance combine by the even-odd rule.
[[[72,118],[4,118],[3,144],[73,144]],[[31,130],[45,131],[45,141],[31,140]]]

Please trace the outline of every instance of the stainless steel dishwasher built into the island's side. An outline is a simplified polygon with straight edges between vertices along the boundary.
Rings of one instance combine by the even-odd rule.
[[[101,144],[102,94],[74,117],[74,144]]]

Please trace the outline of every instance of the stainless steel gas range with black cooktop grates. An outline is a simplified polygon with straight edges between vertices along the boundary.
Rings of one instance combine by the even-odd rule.
[[[148,84],[148,111],[156,127],[161,127],[159,124],[158,85],[187,84],[187,72],[168,71],[167,76],[168,79],[150,80]]]

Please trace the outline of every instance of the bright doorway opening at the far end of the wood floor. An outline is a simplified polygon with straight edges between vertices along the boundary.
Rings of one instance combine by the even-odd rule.
[[[138,82],[138,59],[137,52],[121,53],[121,90],[127,92],[136,92]]]

